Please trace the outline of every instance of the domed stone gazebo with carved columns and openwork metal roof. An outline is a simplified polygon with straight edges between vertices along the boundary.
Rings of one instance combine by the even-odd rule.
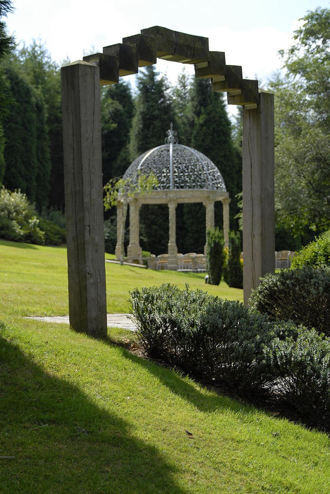
[[[206,232],[214,228],[214,203],[223,204],[223,229],[225,247],[229,242],[229,193],[224,179],[214,163],[196,149],[178,143],[177,133],[166,132],[165,144],[141,154],[129,166],[124,179],[134,184],[139,174],[154,173],[158,186],[147,193],[136,192],[129,198],[130,206],[130,244],[127,249],[129,262],[142,263],[142,249],[139,243],[139,207],[142,204],[167,204],[169,214],[168,269],[178,269],[176,247],[175,208],[178,203],[203,203],[206,209]],[[118,198],[117,204],[117,245],[116,259],[123,258],[124,235],[123,206],[125,199]],[[204,247],[204,254],[206,246]]]

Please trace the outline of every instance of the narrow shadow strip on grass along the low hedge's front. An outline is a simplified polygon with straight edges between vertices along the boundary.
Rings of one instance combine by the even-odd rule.
[[[106,344],[113,344],[111,340],[105,340]],[[125,348],[120,347],[123,357],[140,365],[148,372],[156,376],[166,388],[180,398],[188,401],[201,412],[223,412],[232,410],[244,414],[254,414],[256,409],[252,406],[245,406],[236,400],[227,396],[218,395],[217,393],[202,393],[198,391],[190,382],[187,382],[177,372],[166,369],[156,363],[144,360],[141,357],[133,355]]]

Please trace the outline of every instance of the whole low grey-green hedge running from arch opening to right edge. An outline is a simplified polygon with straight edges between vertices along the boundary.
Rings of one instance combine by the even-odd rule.
[[[330,426],[330,339],[293,322],[271,321],[238,301],[167,284],[135,288],[140,344],[192,377],[243,398],[290,406]]]

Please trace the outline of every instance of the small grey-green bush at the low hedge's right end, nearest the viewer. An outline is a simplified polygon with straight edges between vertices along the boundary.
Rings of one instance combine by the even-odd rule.
[[[296,338],[274,338],[264,348],[268,371],[276,376],[276,398],[301,416],[330,414],[330,340],[302,328]]]

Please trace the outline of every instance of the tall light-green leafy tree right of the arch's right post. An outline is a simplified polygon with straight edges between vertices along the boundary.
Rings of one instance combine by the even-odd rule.
[[[280,53],[286,75],[275,92],[277,226],[296,237],[330,227],[330,9],[303,18]]]

